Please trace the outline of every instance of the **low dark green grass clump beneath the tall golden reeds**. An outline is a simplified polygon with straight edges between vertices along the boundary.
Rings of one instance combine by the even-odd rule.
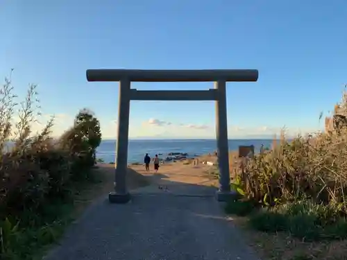
[[[263,208],[249,218],[251,226],[262,232],[289,232],[305,241],[346,239],[347,220],[334,207],[310,200]]]

